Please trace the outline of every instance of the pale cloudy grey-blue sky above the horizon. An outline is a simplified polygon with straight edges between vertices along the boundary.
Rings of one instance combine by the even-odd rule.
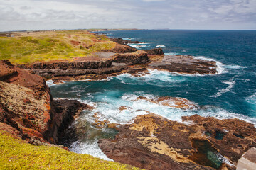
[[[256,30],[256,0],[0,0],[0,31]]]

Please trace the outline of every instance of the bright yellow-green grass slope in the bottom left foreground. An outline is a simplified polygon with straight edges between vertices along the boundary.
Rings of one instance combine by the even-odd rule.
[[[137,169],[58,147],[35,146],[0,131],[0,169]]]

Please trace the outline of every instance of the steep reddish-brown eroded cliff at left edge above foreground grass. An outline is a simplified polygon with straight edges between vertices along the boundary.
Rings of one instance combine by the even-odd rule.
[[[53,101],[42,77],[0,60],[0,130],[28,142],[58,142],[63,124],[87,108],[78,101]],[[65,106],[64,106],[65,105]]]

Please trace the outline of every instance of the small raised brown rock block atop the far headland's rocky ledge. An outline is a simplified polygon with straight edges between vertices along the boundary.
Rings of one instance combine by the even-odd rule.
[[[113,56],[113,62],[126,63],[126,64],[146,64],[150,62],[147,53],[143,50],[137,52],[116,54]]]

